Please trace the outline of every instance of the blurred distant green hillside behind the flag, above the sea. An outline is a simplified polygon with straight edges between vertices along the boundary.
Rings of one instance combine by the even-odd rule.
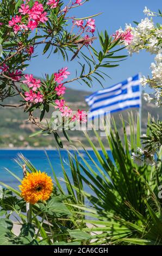
[[[65,100],[70,105],[70,107],[74,110],[78,108],[88,110],[89,107],[85,103],[85,96],[87,96],[88,92],[78,91],[67,89],[65,94]],[[7,102],[4,103],[16,103],[18,102],[18,96],[11,98]],[[138,109],[130,109],[135,115]],[[129,112],[130,112],[129,111]],[[53,109],[49,114],[52,114]],[[124,119],[128,119],[128,111],[122,111],[120,114],[123,115]],[[158,109],[151,103],[146,103],[142,101],[142,130],[145,131],[147,125],[147,115],[148,112],[151,113],[152,117],[159,119],[162,118],[161,109]],[[121,130],[121,123],[119,120],[119,113],[113,114],[117,127],[119,131]],[[55,147],[55,142],[52,136],[39,136],[29,138],[29,135],[35,131],[35,126],[27,123],[26,120],[28,118],[27,113],[23,113],[22,108],[3,108],[0,106],[0,147],[1,148],[13,148],[13,147],[21,147],[21,148],[30,148],[30,147]],[[129,128],[127,127],[127,131],[129,133]],[[91,136],[92,135],[92,132]],[[69,135],[72,141],[82,141],[85,145],[87,145],[86,139],[83,136],[82,132],[78,131],[70,131]],[[64,136],[61,136],[61,139],[64,145],[68,145]],[[95,137],[93,137],[93,141],[95,142]],[[76,145],[79,145],[76,142]]]

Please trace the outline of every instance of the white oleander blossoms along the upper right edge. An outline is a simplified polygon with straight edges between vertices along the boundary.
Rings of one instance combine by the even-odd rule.
[[[145,7],[144,13],[147,16],[155,16],[151,10]],[[126,24],[126,29],[130,29],[133,34],[133,39],[130,44],[127,46],[127,50],[132,56],[132,53],[139,53],[140,50],[146,50],[151,54],[156,54],[154,63],[151,63],[152,77],[142,76],[140,78],[140,83],[143,87],[148,85],[151,89],[155,90],[155,95],[152,97],[151,95],[144,93],[144,99],[147,102],[151,102],[154,100],[155,105],[160,107],[162,105],[162,26],[158,25],[154,26],[153,20],[145,19],[141,20],[138,23],[138,26],[132,27],[131,25]]]

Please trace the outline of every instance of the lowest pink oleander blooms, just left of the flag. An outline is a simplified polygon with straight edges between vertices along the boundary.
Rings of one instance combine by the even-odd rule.
[[[78,109],[78,111],[73,114],[72,109],[65,105],[65,100],[55,100],[55,109],[59,109],[62,117],[67,117],[71,121],[78,121],[86,123],[86,113],[83,110]]]

